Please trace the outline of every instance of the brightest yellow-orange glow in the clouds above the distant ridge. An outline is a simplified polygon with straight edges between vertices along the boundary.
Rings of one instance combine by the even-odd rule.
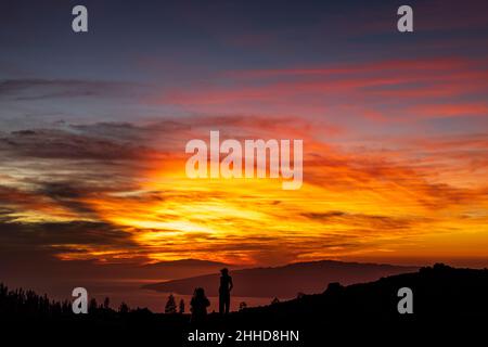
[[[486,226],[486,216],[455,217],[465,213],[464,204],[437,207],[438,197],[425,191],[424,179],[402,168],[381,180],[347,166],[308,174],[344,181],[305,180],[300,190],[283,191],[277,180],[189,179],[182,169],[165,166],[146,170],[137,191],[87,203],[104,220],[138,230],[132,240],[151,249],[153,260],[184,254],[251,264],[257,249],[296,259],[337,258],[394,253],[406,244],[427,253],[440,242],[431,234],[449,230],[455,240],[468,237],[473,228],[479,237]],[[362,187],[365,177],[368,187]],[[408,180],[409,189],[399,179]]]

